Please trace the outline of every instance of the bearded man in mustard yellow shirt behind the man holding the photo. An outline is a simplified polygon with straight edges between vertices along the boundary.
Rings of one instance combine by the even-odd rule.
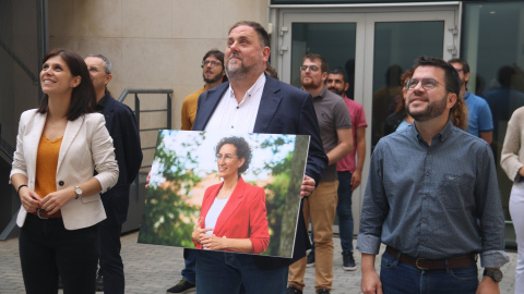
[[[212,49],[205,53],[202,59],[202,76],[204,78],[204,86],[198,91],[190,94],[182,102],[182,127],[181,130],[191,131],[193,128],[194,118],[196,117],[196,109],[199,97],[202,93],[210,90],[219,84],[227,81],[226,71],[224,69],[224,53]],[[191,249],[183,249],[183,260],[186,268],[182,269],[182,279],[174,286],[169,287],[166,293],[188,293],[195,290],[195,252]]]

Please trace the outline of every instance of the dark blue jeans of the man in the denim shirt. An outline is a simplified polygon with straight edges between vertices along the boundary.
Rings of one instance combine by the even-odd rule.
[[[384,294],[475,294],[478,286],[477,265],[458,269],[419,270],[384,253],[380,281]]]

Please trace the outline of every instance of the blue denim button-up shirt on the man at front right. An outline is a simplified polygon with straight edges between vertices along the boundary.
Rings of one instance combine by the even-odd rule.
[[[448,122],[429,146],[414,125],[382,138],[371,157],[357,248],[380,243],[420,258],[479,253],[499,268],[504,216],[489,145]]]

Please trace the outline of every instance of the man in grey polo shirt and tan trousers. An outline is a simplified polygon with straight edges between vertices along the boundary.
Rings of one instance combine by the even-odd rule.
[[[329,163],[313,194],[303,200],[303,217],[311,217],[314,242],[317,293],[330,293],[333,282],[333,222],[338,181],[336,162],[353,150],[352,119],[341,96],[327,90],[327,62],[320,54],[307,54],[300,66],[302,88],[313,97],[322,145]],[[288,294],[302,293],[306,257],[289,266]]]

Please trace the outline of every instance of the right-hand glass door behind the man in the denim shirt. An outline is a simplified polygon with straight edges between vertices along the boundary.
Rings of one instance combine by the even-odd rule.
[[[372,51],[366,56],[372,69],[365,90],[371,97],[371,151],[381,137],[394,130],[386,127],[386,118],[402,109],[401,75],[420,56],[449,60],[456,53],[454,13],[369,13],[366,17],[366,47]],[[368,119],[369,120],[369,119]]]

